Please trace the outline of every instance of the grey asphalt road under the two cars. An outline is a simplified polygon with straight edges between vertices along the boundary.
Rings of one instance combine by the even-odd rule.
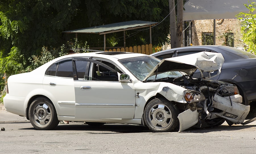
[[[1,109],[1,108],[0,108]],[[2,153],[256,153],[256,122],[153,133],[144,126],[78,122],[35,130],[26,118],[0,110]]]

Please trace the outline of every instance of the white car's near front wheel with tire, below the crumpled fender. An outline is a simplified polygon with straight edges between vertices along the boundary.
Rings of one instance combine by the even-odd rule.
[[[155,98],[145,107],[144,121],[153,132],[173,131],[179,126],[178,109],[165,98]]]

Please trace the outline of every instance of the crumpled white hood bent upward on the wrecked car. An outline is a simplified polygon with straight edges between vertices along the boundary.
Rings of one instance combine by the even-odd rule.
[[[222,54],[213,52],[199,52],[185,56],[167,58],[163,59],[158,66],[152,69],[143,81],[146,81],[150,76],[156,75],[156,72],[157,74],[160,74],[168,71],[181,71],[185,72],[187,75],[192,75],[197,69],[201,72],[203,79],[210,79],[220,74],[223,62],[224,57]],[[210,72],[213,71],[217,72],[211,76]]]

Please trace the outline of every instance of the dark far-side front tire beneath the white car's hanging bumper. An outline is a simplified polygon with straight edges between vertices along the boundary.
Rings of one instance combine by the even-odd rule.
[[[216,127],[216,126],[220,126],[224,122],[225,122],[225,119],[223,118],[215,118],[210,120],[200,119],[200,121],[198,121],[198,123],[192,126],[191,128],[200,129],[200,128]]]

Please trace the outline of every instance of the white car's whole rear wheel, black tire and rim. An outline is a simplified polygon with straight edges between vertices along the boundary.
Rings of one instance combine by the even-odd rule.
[[[31,103],[28,117],[32,126],[38,130],[51,130],[59,124],[53,104],[44,97],[38,97]]]

